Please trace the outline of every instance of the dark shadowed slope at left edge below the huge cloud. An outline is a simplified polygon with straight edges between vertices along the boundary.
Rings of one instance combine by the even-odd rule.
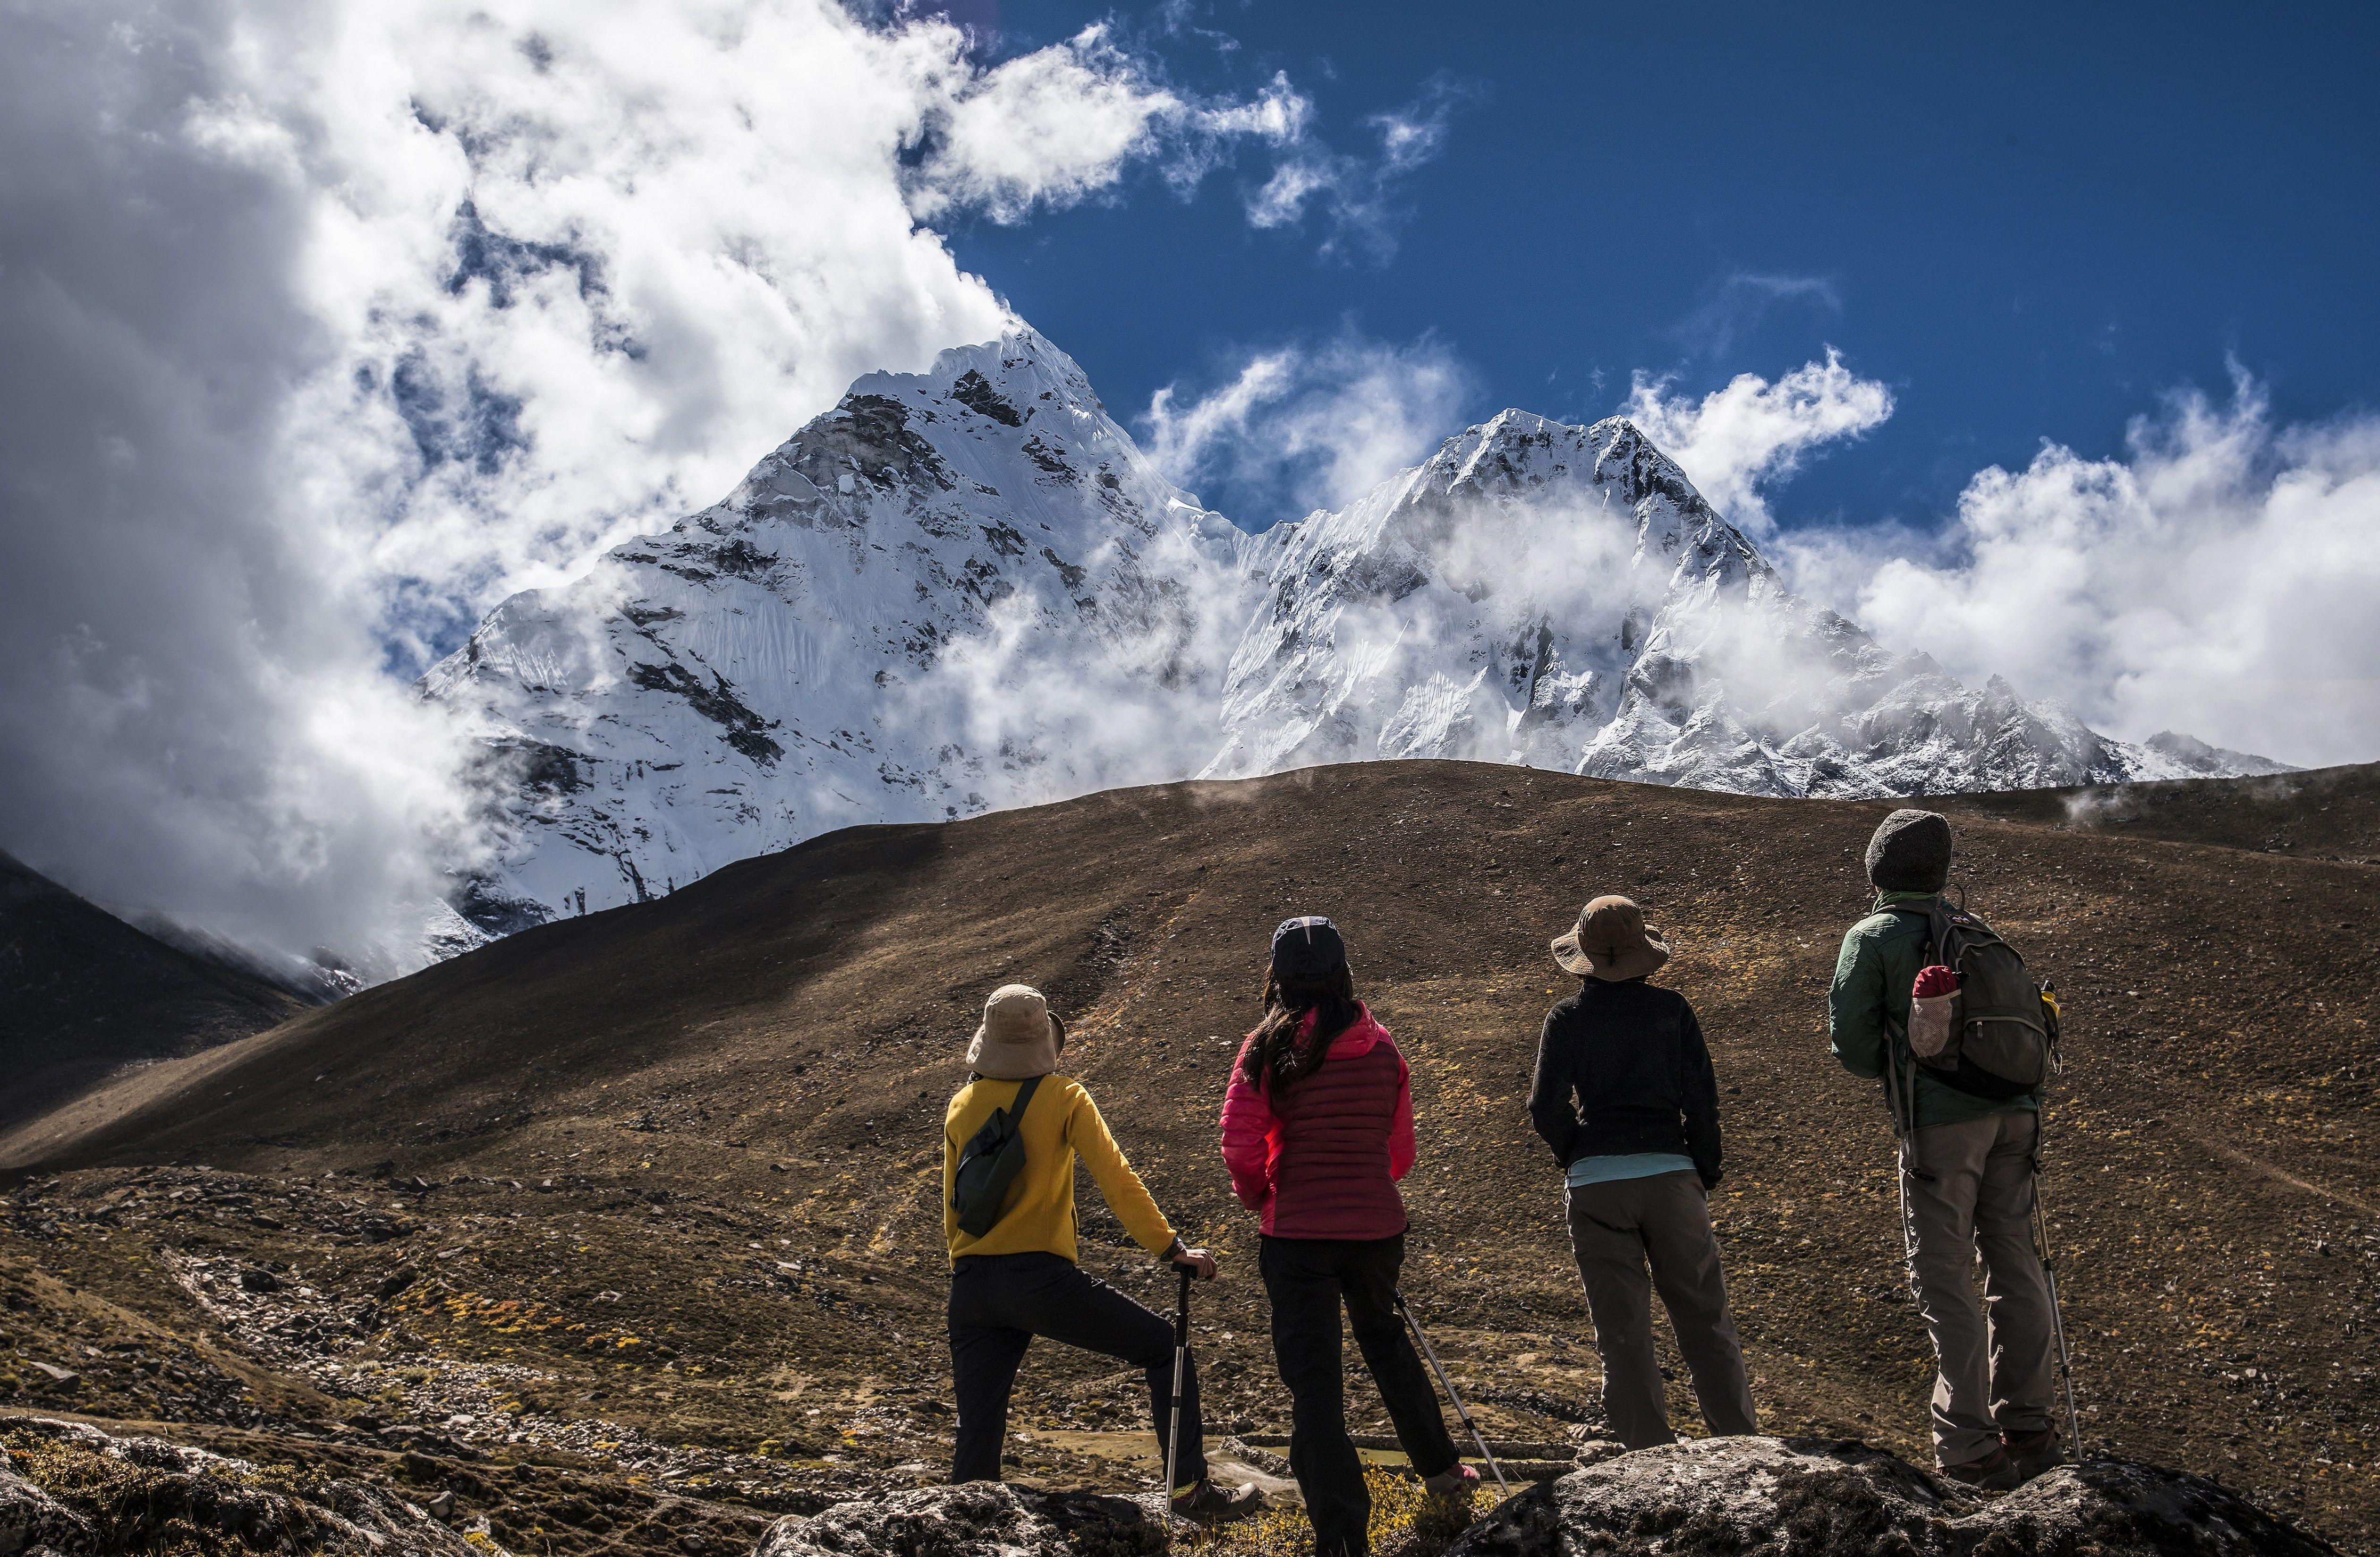
[[[302,1009],[0,852],[0,1126],[119,1067],[245,1038]]]

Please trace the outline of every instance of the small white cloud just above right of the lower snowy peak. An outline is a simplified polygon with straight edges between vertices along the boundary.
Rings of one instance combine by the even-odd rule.
[[[1775,521],[1759,488],[1792,476],[1802,457],[1840,438],[1859,438],[1892,414],[1892,390],[1842,367],[1804,362],[1775,383],[1737,374],[1699,402],[1671,395],[1668,379],[1635,374],[1621,414],[1676,459],[1704,498],[1752,536]]]

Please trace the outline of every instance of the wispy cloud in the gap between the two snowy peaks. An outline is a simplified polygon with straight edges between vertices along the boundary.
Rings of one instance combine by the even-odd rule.
[[[1338,507],[1428,457],[1461,426],[1471,371],[1438,338],[1390,345],[1342,331],[1252,352],[1185,400],[1150,398],[1140,443],[1178,486],[1242,524]]]

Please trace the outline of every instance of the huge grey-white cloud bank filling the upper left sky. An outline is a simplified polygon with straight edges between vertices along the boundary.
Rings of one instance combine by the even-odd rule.
[[[831,0],[33,0],[0,21],[0,843],[390,948],[471,817],[407,690],[497,598],[1000,331],[921,221],[1299,155],[1090,29]]]

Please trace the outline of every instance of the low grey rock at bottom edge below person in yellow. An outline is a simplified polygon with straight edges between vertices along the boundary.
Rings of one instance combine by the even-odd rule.
[[[1145,1557],[1164,1547],[1164,1524],[1140,1502],[971,1481],[778,1519],[752,1557]]]

